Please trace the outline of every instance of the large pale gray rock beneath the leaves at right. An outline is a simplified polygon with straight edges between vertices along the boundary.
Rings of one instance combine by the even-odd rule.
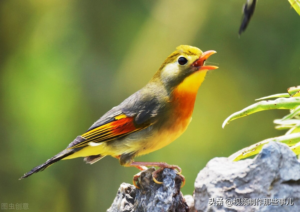
[[[300,163],[286,144],[275,142],[265,145],[254,159],[214,158],[196,178],[194,199],[198,212],[298,212]]]

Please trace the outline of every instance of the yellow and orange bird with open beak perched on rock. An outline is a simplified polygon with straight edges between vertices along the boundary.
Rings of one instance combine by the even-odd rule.
[[[134,157],[161,149],[187,129],[199,86],[208,70],[218,68],[204,65],[214,53],[216,51],[202,52],[196,47],[180,45],[145,87],[104,114],[65,150],[20,179],[43,171],[61,159],[84,157],[92,164],[107,155],[119,159],[123,166],[134,166],[141,171],[146,170],[146,166],[161,167],[152,174],[156,183],[162,183],[155,178],[164,168],[177,168],[180,174],[181,169],[176,165],[134,162]],[[139,174],[134,176],[135,186]],[[184,183],[184,177],[180,176]]]

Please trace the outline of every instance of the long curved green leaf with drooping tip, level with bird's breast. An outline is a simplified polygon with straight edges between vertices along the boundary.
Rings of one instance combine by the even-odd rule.
[[[296,108],[298,105],[300,105],[299,97],[290,97],[290,98],[281,97],[281,98],[277,98],[275,100],[259,101],[255,104],[248,106],[247,108],[244,108],[241,111],[231,114],[223,122],[222,127],[224,128],[225,125],[228,124],[232,120],[256,113],[258,111],[271,110],[271,109],[289,109],[289,110],[291,110],[291,109]]]

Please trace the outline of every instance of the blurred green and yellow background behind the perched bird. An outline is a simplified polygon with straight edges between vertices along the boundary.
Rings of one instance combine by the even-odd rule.
[[[193,120],[172,144],[137,161],[179,165],[182,193],[197,173],[283,132],[265,111],[221,128],[254,99],[300,84],[300,17],[288,1],[259,1],[238,37],[244,0],[0,2],[0,202],[30,211],[106,211],[136,168],[105,157],[64,160],[18,180],[60,152],[99,117],[143,87],[180,44],[216,50]],[[211,64],[215,65],[215,64]]]

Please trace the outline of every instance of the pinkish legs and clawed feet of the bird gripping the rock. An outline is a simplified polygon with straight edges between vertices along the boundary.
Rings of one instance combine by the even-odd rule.
[[[152,173],[152,178],[153,178],[153,181],[155,183],[158,183],[158,184],[162,184],[163,182],[159,182],[158,180],[156,180],[157,178],[157,174],[161,171],[164,170],[164,168],[172,168],[172,169],[177,169],[178,170],[178,175],[181,177],[181,180],[182,180],[182,186],[184,186],[185,184],[185,178],[184,176],[181,174],[181,168],[177,165],[169,165],[167,163],[164,163],[164,162],[131,162],[131,164],[129,166],[134,166],[134,167],[145,167],[145,166],[157,166],[157,167],[160,167],[158,170],[154,171]],[[140,168],[139,168],[140,169]],[[140,169],[142,170],[142,169]],[[143,171],[143,170],[142,170]],[[134,180],[137,181],[138,177],[140,177],[140,174],[141,173],[138,173],[136,175],[134,175]],[[135,182],[134,182],[135,184]],[[136,185],[135,185],[136,186]],[[137,187],[137,186],[136,186]],[[138,187],[137,187],[138,188]]]

